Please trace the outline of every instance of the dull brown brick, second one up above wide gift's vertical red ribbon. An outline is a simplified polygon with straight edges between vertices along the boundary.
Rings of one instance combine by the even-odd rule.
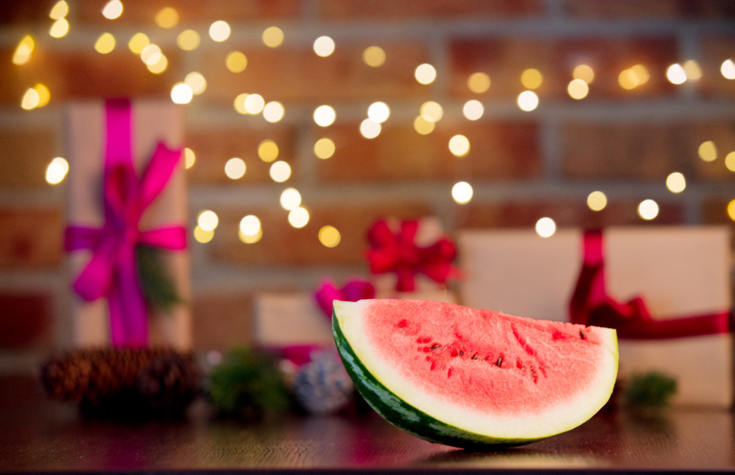
[[[569,178],[659,179],[661,184],[671,172],[690,170],[691,151],[698,147],[691,126],[639,121],[567,123],[561,142]]]

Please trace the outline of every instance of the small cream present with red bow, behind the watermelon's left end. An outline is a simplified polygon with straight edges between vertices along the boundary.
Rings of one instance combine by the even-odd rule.
[[[453,302],[447,283],[457,275],[456,246],[439,220],[377,220],[368,230],[366,252],[379,298]]]

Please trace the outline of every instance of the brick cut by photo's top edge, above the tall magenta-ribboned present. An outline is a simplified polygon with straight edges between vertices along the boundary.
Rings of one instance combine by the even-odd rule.
[[[164,7],[173,7],[179,13],[180,28],[218,20],[228,21],[231,26],[240,22],[295,20],[302,8],[301,0],[126,0],[123,5],[123,14],[115,21],[102,16],[104,2],[76,2],[75,14],[84,23],[156,26],[156,14]]]

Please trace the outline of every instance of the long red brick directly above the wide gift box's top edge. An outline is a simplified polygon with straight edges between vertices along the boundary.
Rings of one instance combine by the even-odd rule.
[[[683,224],[684,209],[681,203],[659,200],[659,215],[644,221],[637,214],[640,201],[631,197],[610,200],[602,211],[587,208],[586,198],[547,200],[512,200],[502,203],[478,203],[455,206],[452,214],[453,228],[534,228],[542,217],[551,217],[557,226],[601,228],[619,225]]]

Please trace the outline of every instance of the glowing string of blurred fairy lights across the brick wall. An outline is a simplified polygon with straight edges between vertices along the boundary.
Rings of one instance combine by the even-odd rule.
[[[115,20],[123,15],[124,7],[121,0],[110,0],[101,10],[101,15],[109,20]],[[49,11],[51,26],[49,37],[61,38],[68,34],[70,25],[67,20],[69,12],[65,0],[57,1]],[[173,7],[159,10],[154,18],[161,29],[174,29],[179,23],[179,14]],[[200,35],[194,29],[183,29],[176,34],[176,46],[182,51],[194,51],[208,36],[216,43],[223,43],[230,37],[232,29],[229,23],[223,20],[215,21],[207,30],[206,35]],[[203,38],[204,36],[204,38]],[[278,48],[284,43],[284,32],[278,26],[270,26],[262,32],[262,42],[269,48]],[[18,67],[32,60],[36,41],[32,35],[25,35],[15,48],[12,62]],[[108,54],[118,47],[118,40],[110,32],[103,32],[98,36],[93,47],[99,54]],[[157,44],[151,43],[148,35],[137,32],[130,37],[127,47],[133,54],[137,54],[146,68],[153,74],[160,74],[168,68],[168,58],[165,51]],[[326,35],[317,37],[313,43],[313,51],[320,57],[329,57],[335,50],[334,40]],[[386,53],[380,46],[368,46],[362,52],[362,61],[370,68],[380,68],[386,61]],[[242,73],[248,66],[248,58],[241,51],[230,51],[225,57],[226,68],[232,73]],[[696,82],[703,77],[698,62],[689,59],[681,64],[675,63],[665,70],[665,76],[671,84],[679,85],[686,82]],[[414,70],[415,80],[419,84],[431,84],[437,79],[437,69],[434,65],[423,63]],[[733,59],[724,59],[720,66],[720,74],[726,80],[735,80],[735,62]],[[624,90],[634,90],[650,80],[650,72],[645,65],[638,64],[620,72],[618,84]],[[525,112],[532,112],[539,106],[539,89],[544,77],[541,71],[528,68],[520,75],[522,92],[517,95],[517,107]],[[595,81],[595,70],[589,65],[580,64],[573,69],[571,79],[567,84],[567,94],[570,98],[581,101],[587,97],[590,85]],[[490,90],[492,79],[487,73],[478,71],[467,77],[467,89],[471,93],[482,94]],[[207,79],[198,71],[188,73],[183,81],[171,87],[171,100],[176,104],[189,104],[194,96],[207,90]],[[25,110],[37,109],[49,104],[51,91],[46,85],[38,83],[29,87],[21,98],[21,108]],[[242,115],[260,115],[268,123],[278,123],[284,118],[286,109],[279,101],[266,101],[258,93],[242,93],[232,102],[234,110]],[[374,139],[381,134],[382,124],[390,118],[390,106],[382,101],[373,102],[368,106],[367,117],[359,124],[359,133],[365,139]],[[467,120],[478,120],[484,115],[484,106],[481,101],[471,99],[462,106],[462,114]],[[436,124],[442,119],[444,109],[436,101],[426,101],[415,117],[413,126],[417,134],[428,135],[434,131]],[[334,107],[323,104],[315,108],[312,118],[321,128],[329,128],[337,120]],[[470,140],[462,134],[456,134],[448,141],[448,150],[453,156],[464,157],[470,152]],[[337,151],[337,144],[329,137],[320,137],[315,141],[313,152],[318,159],[330,159]],[[279,147],[272,139],[265,139],[259,143],[257,155],[262,162],[270,164],[270,178],[276,183],[285,183],[291,175],[291,167],[284,160],[279,160]],[[720,153],[717,144],[708,140],[702,142],[698,150],[699,159],[703,162],[714,162],[724,156],[725,167],[735,173],[735,151]],[[196,153],[190,148],[184,149],[185,166],[193,167],[196,162]],[[46,168],[46,181],[49,184],[59,184],[68,173],[68,162],[62,157],[51,159]],[[232,157],[226,161],[223,172],[232,180],[243,178],[247,170],[245,161],[240,157]],[[681,193],[686,189],[686,178],[681,172],[673,172],[667,176],[665,185],[672,193]],[[473,198],[473,186],[467,181],[459,181],[451,188],[451,197],[459,205],[470,203]],[[587,206],[592,211],[602,211],[607,206],[608,198],[603,191],[595,190],[587,196]],[[304,228],[309,222],[309,211],[302,206],[301,193],[298,189],[287,187],[280,195],[279,204],[288,211],[288,222],[294,228]],[[653,220],[659,214],[659,205],[655,200],[642,200],[637,207],[637,213],[642,220]],[[735,200],[727,205],[727,214],[735,221]],[[218,227],[219,218],[215,211],[205,209],[198,212],[196,227],[193,229],[194,238],[201,243],[209,242]],[[539,236],[551,236],[556,231],[556,223],[551,217],[542,217],[537,221],[536,231]],[[257,216],[248,214],[240,221],[239,234],[241,241],[252,244],[262,238],[262,225]],[[340,243],[340,231],[334,226],[326,225],[318,232],[320,242],[326,247],[334,247]]]

